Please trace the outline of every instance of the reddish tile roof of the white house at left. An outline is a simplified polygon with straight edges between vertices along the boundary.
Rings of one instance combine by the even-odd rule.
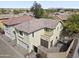
[[[11,26],[11,25],[20,24],[22,22],[25,22],[31,19],[32,19],[31,16],[19,16],[19,17],[9,18],[8,20],[4,20],[3,23]]]

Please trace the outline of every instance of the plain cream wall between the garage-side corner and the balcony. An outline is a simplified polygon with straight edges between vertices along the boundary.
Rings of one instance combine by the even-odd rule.
[[[33,45],[36,47],[40,45],[40,39],[42,34],[44,34],[44,29],[34,32],[34,37],[32,37],[32,34],[29,35],[30,44],[32,44],[30,47],[31,50],[33,50]]]

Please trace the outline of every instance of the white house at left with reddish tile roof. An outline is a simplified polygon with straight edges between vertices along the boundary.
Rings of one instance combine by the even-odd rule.
[[[9,18],[8,20],[4,20],[2,23],[4,24],[5,35],[9,37],[11,40],[14,40],[16,36],[14,26],[22,22],[27,22],[28,20],[31,19],[32,17],[30,16],[20,16],[20,17],[13,17],[13,18]]]

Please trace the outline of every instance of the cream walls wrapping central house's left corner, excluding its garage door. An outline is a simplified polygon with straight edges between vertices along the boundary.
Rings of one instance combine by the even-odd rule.
[[[33,45],[38,47],[40,45],[40,38],[41,35],[44,34],[44,29],[34,32],[34,37],[32,34],[27,35],[23,32],[23,36],[17,31],[17,44],[21,44],[19,40],[23,41],[24,43],[29,45],[29,52],[33,50]],[[19,40],[18,40],[19,39]],[[27,49],[27,48],[26,48]]]

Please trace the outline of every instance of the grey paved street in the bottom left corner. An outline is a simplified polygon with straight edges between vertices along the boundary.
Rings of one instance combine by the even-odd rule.
[[[4,41],[0,35],[0,58],[20,58],[23,57],[13,47],[11,47],[6,41]]]

